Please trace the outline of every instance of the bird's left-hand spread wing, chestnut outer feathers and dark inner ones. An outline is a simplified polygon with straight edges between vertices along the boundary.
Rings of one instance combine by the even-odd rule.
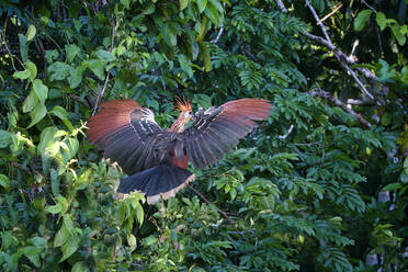
[[[133,100],[101,104],[87,126],[89,140],[104,150],[122,169],[133,174],[166,160],[169,133],[156,123],[154,113]]]

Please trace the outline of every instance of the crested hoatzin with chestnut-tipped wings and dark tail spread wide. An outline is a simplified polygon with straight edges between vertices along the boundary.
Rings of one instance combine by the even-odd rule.
[[[148,204],[174,196],[195,180],[189,162],[200,169],[213,166],[258,127],[254,121],[268,120],[272,111],[269,100],[252,98],[196,113],[190,100],[175,99],[174,104],[180,113],[167,131],[150,109],[129,99],[101,103],[89,118],[88,140],[128,175],[120,181],[117,193],[138,191]]]

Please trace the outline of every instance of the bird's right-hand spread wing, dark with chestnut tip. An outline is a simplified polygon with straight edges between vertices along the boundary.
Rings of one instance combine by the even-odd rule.
[[[272,105],[268,100],[240,99],[199,113],[193,125],[182,133],[183,147],[196,168],[222,159],[238,140],[267,120]]]

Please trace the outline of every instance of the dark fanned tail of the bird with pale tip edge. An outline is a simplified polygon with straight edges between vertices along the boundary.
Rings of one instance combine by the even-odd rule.
[[[139,191],[152,204],[175,195],[186,183],[195,179],[189,170],[170,165],[160,165],[121,180],[118,193]]]

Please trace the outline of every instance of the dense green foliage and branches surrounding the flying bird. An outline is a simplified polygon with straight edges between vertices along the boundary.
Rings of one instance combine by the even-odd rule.
[[[404,271],[407,2],[2,1],[0,270]],[[211,204],[117,200],[84,122],[174,95],[274,110],[194,170]]]

